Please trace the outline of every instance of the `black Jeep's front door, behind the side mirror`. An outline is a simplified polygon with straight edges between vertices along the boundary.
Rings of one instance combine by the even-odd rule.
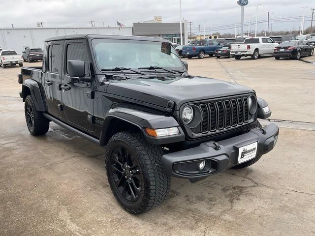
[[[92,83],[82,82],[68,75],[68,60],[83,60],[85,77],[91,77],[85,40],[66,40],[63,50],[64,68],[62,81],[63,111],[66,120],[73,126],[93,131],[93,93]]]

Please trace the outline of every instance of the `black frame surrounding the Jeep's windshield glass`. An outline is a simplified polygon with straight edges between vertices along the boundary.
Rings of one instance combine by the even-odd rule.
[[[91,48],[91,54],[92,54],[92,57],[93,57],[93,60],[94,60],[94,63],[95,63],[95,67],[97,68],[97,70],[99,71],[99,72],[101,72],[102,74],[108,74],[108,72],[109,72],[109,70],[108,69],[112,69],[112,68],[102,68],[102,67],[100,67],[99,66],[99,64],[98,64],[98,62],[97,62],[97,59],[96,59],[96,55],[95,55],[95,47],[94,47],[94,43],[93,43],[93,41],[94,40],[120,40],[120,41],[143,41],[143,42],[158,42],[158,43],[169,43],[170,44],[170,46],[171,46],[171,48],[173,48],[173,50],[174,50],[174,53],[175,53],[175,56],[176,57],[178,57],[178,59],[180,59],[180,61],[181,61],[181,67],[165,67],[165,66],[159,66],[159,67],[164,67],[164,68],[167,68],[167,69],[169,69],[169,70],[173,70],[173,71],[175,71],[175,72],[177,72],[177,71],[185,71],[185,65],[184,65],[184,63],[183,63],[183,61],[182,61],[182,59],[178,56],[178,53],[176,52],[176,49],[175,49],[175,47],[172,45],[172,42],[170,42],[170,41],[167,41],[167,40],[146,40],[146,39],[144,39],[144,38],[141,38],[141,39],[130,39],[130,38],[127,38],[127,39],[124,39],[124,38],[102,38],[102,37],[93,37],[93,38],[91,38],[89,41],[90,41],[90,48]],[[116,67],[116,66],[114,66],[114,67]],[[117,66],[118,67],[118,66]],[[145,67],[145,66],[138,66],[139,68],[140,67]],[[136,70],[138,70],[138,67],[130,67],[131,69],[136,69]],[[104,71],[104,69],[105,69],[105,71]],[[160,72],[166,72],[165,70],[163,70],[163,69],[156,69],[156,70],[144,70],[144,69],[140,69],[139,71],[141,71],[141,72],[145,72],[145,73],[147,73],[147,72],[153,72],[153,71],[155,71],[155,72],[158,72],[158,73],[160,73]],[[131,71],[130,71],[131,72]],[[111,74],[134,74],[135,72],[123,72],[123,71],[110,71],[110,73]],[[169,73],[169,72],[167,72],[167,73]]]

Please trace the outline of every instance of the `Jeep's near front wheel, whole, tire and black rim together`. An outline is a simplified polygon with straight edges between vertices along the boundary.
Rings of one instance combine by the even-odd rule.
[[[147,143],[141,133],[119,132],[111,137],[105,154],[106,175],[118,203],[141,214],[163,203],[170,177],[161,166],[163,149]]]

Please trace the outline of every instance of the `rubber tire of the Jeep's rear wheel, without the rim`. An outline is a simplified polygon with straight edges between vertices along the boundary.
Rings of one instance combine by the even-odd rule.
[[[30,104],[32,107],[33,122],[34,122],[33,126],[29,125],[28,123],[28,118],[29,118],[28,109],[27,109],[28,104]],[[25,110],[25,119],[26,119],[27,127],[30,133],[34,136],[46,134],[49,129],[49,120],[43,116],[42,112],[38,112],[36,110],[36,106],[32,98],[32,95],[28,95],[25,98],[24,110]]]

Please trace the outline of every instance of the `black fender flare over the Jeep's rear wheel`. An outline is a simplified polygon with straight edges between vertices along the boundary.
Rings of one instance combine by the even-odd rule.
[[[34,99],[36,110],[39,112],[45,112],[46,106],[45,106],[45,103],[43,101],[43,97],[41,95],[41,91],[40,91],[38,83],[32,79],[27,79],[23,82],[23,84],[22,84],[23,102],[25,102],[25,98],[28,95],[26,92],[26,88],[29,88],[31,91],[31,95]]]

